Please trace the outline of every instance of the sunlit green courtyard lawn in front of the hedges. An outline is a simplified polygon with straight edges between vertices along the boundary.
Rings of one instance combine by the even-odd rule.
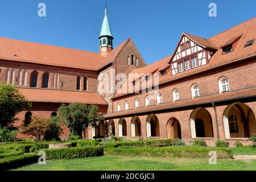
[[[46,165],[31,164],[15,170],[28,171],[169,171],[169,170],[254,170],[256,160],[217,160],[210,165],[208,159],[146,158],[126,156],[100,156],[72,160],[48,160]]]

